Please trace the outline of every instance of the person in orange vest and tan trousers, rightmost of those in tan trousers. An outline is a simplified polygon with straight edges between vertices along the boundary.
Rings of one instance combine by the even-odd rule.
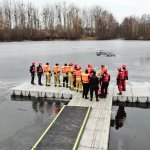
[[[81,73],[82,73],[82,70],[81,70],[81,67],[78,66],[77,67],[77,70],[75,72],[75,75],[76,75],[76,91],[78,92],[82,92],[82,81],[81,81]]]

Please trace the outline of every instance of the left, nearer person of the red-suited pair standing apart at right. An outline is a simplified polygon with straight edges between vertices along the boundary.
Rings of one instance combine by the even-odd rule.
[[[118,90],[119,90],[118,95],[122,95],[122,82],[124,80],[124,74],[122,73],[120,67],[117,69],[118,69],[118,75],[116,79],[117,79],[117,85],[118,85]]]

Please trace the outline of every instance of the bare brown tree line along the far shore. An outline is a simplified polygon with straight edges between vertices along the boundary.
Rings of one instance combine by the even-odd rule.
[[[121,24],[100,6],[0,2],[0,41],[53,39],[150,39],[150,15],[126,17]]]

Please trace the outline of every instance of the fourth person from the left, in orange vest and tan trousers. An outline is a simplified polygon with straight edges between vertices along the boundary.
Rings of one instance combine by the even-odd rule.
[[[54,85],[55,86],[61,86],[60,85],[60,68],[59,68],[59,64],[56,64],[55,66],[53,66],[53,73],[54,73]]]

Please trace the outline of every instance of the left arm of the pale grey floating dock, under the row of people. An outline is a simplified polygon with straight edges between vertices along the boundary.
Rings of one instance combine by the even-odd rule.
[[[46,100],[70,101],[76,94],[69,88],[40,86],[24,83],[11,89],[12,98],[45,98]]]

